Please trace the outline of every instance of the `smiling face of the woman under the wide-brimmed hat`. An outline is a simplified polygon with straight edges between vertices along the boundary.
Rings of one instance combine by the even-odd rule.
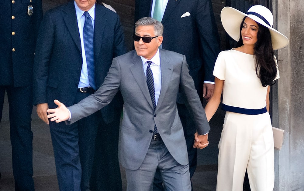
[[[243,39],[244,45],[254,46],[257,42],[257,31],[259,30],[259,26],[257,22],[252,20],[249,17],[246,17],[244,20],[244,24],[241,30],[241,36]]]

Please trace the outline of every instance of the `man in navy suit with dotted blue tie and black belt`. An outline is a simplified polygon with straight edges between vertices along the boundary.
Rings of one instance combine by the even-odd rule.
[[[47,119],[54,98],[71,106],[102,84],[112,59],[125,53],[116,13],[95,0],[75,0],[45,13],[34,62],[34,104],[50,124],[60,190],[88,190],[99,120],[119,121],[119,94],[109,106],[72,126]],[[115,127],[118,128],[118,127]]]

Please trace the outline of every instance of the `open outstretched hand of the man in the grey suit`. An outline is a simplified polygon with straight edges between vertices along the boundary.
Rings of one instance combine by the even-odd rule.
[[[70,118],[70,113],[67,107],[58,101],[57,99],[54,100],[54,103],[58,106],[56,109],[48,109],[47,112],[50,113],[47,115],[47,118],[51,118],[51,121],[56,121],[56,123],[66,121]]]

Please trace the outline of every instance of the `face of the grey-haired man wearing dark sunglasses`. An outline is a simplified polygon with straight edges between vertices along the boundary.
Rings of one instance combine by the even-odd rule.
[[[154,37],[157,36],[154,33],[153,25],[140,25],[136,28],[135,35],[137,36],[146,36]],[[134,41],[134,47],[138,56],[142,56],[145,59],[150,60],[157,52],[158,47],[161,45],[163,37],[159,36],[154,39],[151,39],[151,42],[143,42],[143,39],[140,39],[138,42]]]

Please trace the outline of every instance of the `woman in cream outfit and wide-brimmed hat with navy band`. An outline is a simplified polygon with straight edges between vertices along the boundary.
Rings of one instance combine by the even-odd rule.
[[[221,20],[237,48],[220,52],[215,63],[215,90],[205,111],[210,120],[221,101],[226,111],[219,142],[217,191],[242,191],[247,169],[252,191],[274,187],[274,144],[269,90],[279,78],[274,49],[288,39],[272,28],[268,8],[254,5],[247,14],[223,8]]]

